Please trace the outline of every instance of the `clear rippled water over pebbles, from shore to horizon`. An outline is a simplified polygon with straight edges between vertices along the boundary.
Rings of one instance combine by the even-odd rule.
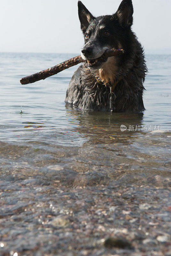
[[[171,56],[146,56],[143,114],[65,104],[77,66],[19,83],[76,55],[0,53],[0,255],[170,255]]]

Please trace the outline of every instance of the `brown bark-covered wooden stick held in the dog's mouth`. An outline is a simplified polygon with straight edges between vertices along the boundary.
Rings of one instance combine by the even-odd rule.
[[[116,49],[109,49],[107,51],[105,51],[105,53],[103,54],[103,58],[107,58],[107,57],[112,57],[112,56],[118,56],[120,54],[124,53],[124,50],[116,50]],[[45,69],[43,71],[40,71],[38,73],[35,73],[33,75],[30,76],[25,76],[23,78],[21,78],[20,83],[21,84],[31,84],[31,83],[35,83],[36,81],[39,80],[44,80],[45,78],[49,77],[49,76],[53,76],[61,71],[63,71],[64,69],[70,68],[72,66],[75,66],[81,62],[86,62],[87,60],[83,60],[81,55],[76,56],[72,59],[66,60],[52,68],[48,68]]]

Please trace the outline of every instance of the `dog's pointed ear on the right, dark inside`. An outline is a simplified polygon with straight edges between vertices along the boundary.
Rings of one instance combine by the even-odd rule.
[[[133,23],[133,5],[132,0],[123,0],[116,12],[120,25],[124,28],[131,27]]]

